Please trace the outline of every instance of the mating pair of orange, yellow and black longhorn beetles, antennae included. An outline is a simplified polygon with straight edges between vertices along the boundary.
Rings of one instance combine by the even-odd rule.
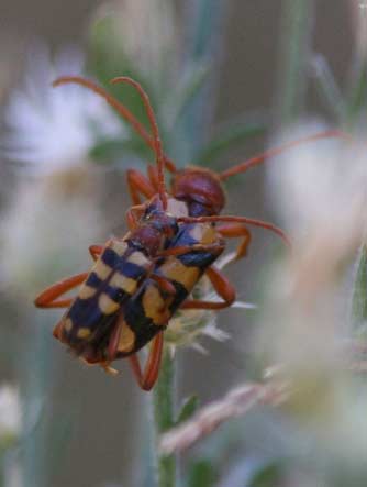
[[[264,152],[223,173],[189,166],[177,169],[164,154],[155,114],[140,84],[119,77],[113,84],[133,86],[141,96],[151,135],[124,104],[92,81],[60,77],[54,86],[74,82],[105,99],[154,150],[156,166],[148,166],[147,177],[127,170],[133,207],[126,213],[130,231],[122,239],[111,239],[104,246],[92,245],[94,265],[89,273],[66,278],[45,289],[36,299],[40,308],[68,308],[54,329],[54,336],[69,346],[81,359],[114,373],[110,364],[129,357],[138,385],[149,390],[157,380],[163,353],[163,332],[178,309],[219,310],[235,300],[235,289],[212,264],[225,248],[225,237],[240,237],[234,259],[246,255],[252,235],[248,225],[278,234],[277,226],[244,217],[220,215],[225,204],[222,181],[244,173],[290,147],[318,139],[341,136],[325,131]],[[170,191],[165,185],[165,168],[171,173]],[[146,199],[142,202],[141,197]],[[221,224],[218,224],[221,223]],[[221,301],[191,299],[199,279],[207,275]],[[80,286],[76,298],[60,296]],[[144,370],[136,353],[152,341]]]

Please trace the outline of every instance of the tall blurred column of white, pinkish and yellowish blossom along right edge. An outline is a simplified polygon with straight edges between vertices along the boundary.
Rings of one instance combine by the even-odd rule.
[[[287,140],[315,132],[301,126]],[[351,380],[345,341],[352,336],[348,263],[367,228],[365,142],[302,145],[273,161],[269,173],[274,209],[296,240],[292,254],[269,275],[263,350],[290,384],[285,410],[334,461],[348,461],[348,451],[360,461],[367,421],[358,411],[367,402]]]

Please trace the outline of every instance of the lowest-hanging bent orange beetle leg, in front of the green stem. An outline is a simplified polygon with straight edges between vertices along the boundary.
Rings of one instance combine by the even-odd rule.
[[[151,390],[155,385],[159,374],[163,352],[163,332],[158,332],[152,341],[149,355],[146,359],[144,372],[142,372],[141,363],[136,354],[129,357],[131,368],[143,390]]]

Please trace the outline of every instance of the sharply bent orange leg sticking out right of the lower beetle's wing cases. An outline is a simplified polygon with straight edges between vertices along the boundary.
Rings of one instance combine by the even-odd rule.
[[[215,267],[209,267],[205,272],[215,292],[223,299],[223,301],[201,301],[197,299],[186,300],[181,309],[223,309],[229,308],[236,298],[236,291],[229,279],[223,276]]]

